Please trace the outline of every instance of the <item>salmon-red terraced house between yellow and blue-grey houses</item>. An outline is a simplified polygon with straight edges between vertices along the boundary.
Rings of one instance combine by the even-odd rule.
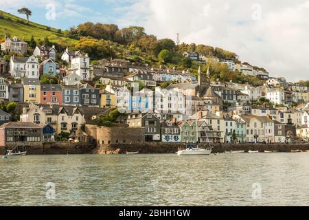
[[[41,85],[41,104],[62,105],[62,88],[58,84]]]

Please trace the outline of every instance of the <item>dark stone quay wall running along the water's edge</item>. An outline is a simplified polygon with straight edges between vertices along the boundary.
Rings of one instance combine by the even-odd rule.
[[[126,152],[139,152],[140,154],[170,154],[175,153],[179,148],[185,148],[186,144],[146,142],[144,144],[108,144],[100,145],[91,143],[68,143],[53,142],[27,145],[27,155],[78,155],[78,154],[126,154]],[[12,149],[14,145],[0,147],[0,155]],[[201,144],[201,148],[206,148],[207,144]],[[211,153],[225,153],[226,151],[276,151],[290,153],[291,151],[309,151],[309,144],[211,144]]]

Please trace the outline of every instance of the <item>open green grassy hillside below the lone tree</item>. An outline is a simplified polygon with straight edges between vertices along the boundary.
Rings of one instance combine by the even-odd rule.
[[[20,39],[24,37],[25,41],[30,41],[31,36],[34,36],[36,41],[43,40],[47,36],[49,41],[60,45],[71,45],[78,42],[75,39],[69,38],[67,31],[58,33],[55,28],[47,29],[48,27],[45,25],[31,21],[27,24],[27,20],[0,10],[0,38],[8,34],[10,36],[17,36]]]

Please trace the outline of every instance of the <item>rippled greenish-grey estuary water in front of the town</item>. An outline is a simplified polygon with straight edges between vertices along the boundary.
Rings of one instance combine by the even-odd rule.
[[[309,206],[309,153],[0,159],[0,206]]]

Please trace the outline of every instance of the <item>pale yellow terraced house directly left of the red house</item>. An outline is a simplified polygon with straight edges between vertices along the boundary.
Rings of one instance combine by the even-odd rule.
[[[23,100],[32,104],[41,102],[41,82],[36,78],[24,78],[23,81]]]

